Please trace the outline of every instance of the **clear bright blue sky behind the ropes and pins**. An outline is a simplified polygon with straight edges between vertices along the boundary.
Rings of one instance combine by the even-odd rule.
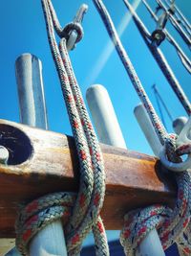
[[[131,1],[133,2],[133,1]],[[62,25],[70,22],[74,13],[82,2],[79,0],[53,0],[54,8]],[[105,52],[109,42],[108,34],[96,12],[93,2],[85,2],[89,6],[83,22],[84,38],[71,53],[74,63],[74,71],[85,97],[86,89],[93,83],[101,83],[107,89],[115,106],[117,118],[129,149],[152,153],[137,121],[133,109],[138,105],[138,96],[134,91],[131,81],[126,75],[123,65],[113,51],[108,61],[97,72],[97,63]],[[118,27],[127,12],[122,1],[105,0],[105,5]],[[149,1],[155,6],[155,1]],[[190,17],[191,1],[177,0],[177,5],[187,18]],[[152,32],[155,23],[150,14],[140,4],[138,14],[144,20],[145,25]],[[40,0],[11,0],[1,1],[1,40],[0,40],[0,118],[19,122],[19,110],[17,89],[14,75],[14,61],[22,53],[32,53],[42,60],[43,77],[45,85],[46,102],[48,108],[49,128],[54,131],[71,134],[69,120],[63,104],[61,90],[55,72],[53,59],[47,40],[44,17]],[[180,45],[190,58],[190,52],[170,24],[167,25]],[[155,82],[159,86],[159,92],[168,105],[174,118],[185,115],[177,97],[170,88],[168,82],[162,76],[155,59],[146,48],[133,21],[129,23],[121,40],[132,59],[152,103],[157,107],[151,85]],[[162,43],[162,51],[168,59],[182,88],[191,100],[190,75],[183,68],[173,47],[168,42]],[[157,109],[158,110],[158,109]],[[169,131],[172,131],[170,121],[166,118]]]

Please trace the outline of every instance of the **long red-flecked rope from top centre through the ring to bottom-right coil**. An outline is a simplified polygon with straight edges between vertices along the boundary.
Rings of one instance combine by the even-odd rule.
[[[96,9],[101,15],[101,18],[107,28],[107,31],[112,38],[119,58],[121,59],[143,105],[150,116],[150,119],[159,135],[159,140],[162,145],[166,146],[166,154],[170,161],[180,162],[180,155],[185,151],[179,151],[176,147],[177,136],[167,134],[165,128],[159,121],[153,106],[151,105],[138,75],[125,52],[120,39],[117,36],[117,31],[114,27],[112,19],[107,12],[101,0],[94,0]],[[191,152],[191,145],[184,145],[182,148],[188,149]],[[179,149],[180,150],[180,149]],[[187,172],[182,172],[180,175],[175,175],[178,183],[178,199],[174,210],[167,207],[154,205],[144,210],[132,212],[125,217],[125,226],[121,232],[121,244],[125,246],[126,255],[134,255],[138,244],[143,240],[146,234],[154,227],[159,228],[159,236],[163,248],[167,248],[175,241],[179,243],[180,250],[184,255],[189,255],[191,244],[189,239],[190,231],[190,216],[191,216],[191,179]],[[161,226],[162,225],[162,226]],[[182,235],[183,234],[183,235]],[[178,239],[180,237],[180,239]],[[182,238],[183,237],[183,238]]]

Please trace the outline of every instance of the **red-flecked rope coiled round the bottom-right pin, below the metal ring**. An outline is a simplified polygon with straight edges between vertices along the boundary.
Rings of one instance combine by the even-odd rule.
[[[124,246],[126,255],[135,255],[138,245],[154,228],[158,230],[164,250],[171,244],[177,243],[183,255],[190,255],[191,180],[187,172],[175,177],[178,184],[178,198],[173,210],[157,204],[125,215],[120,243]]]

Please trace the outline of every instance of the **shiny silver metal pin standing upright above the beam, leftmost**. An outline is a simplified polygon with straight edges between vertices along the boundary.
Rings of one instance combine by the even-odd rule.
[[[23,54],[15,62],[20,105],[20,121],[37,128],[48,128],[41,61]]]

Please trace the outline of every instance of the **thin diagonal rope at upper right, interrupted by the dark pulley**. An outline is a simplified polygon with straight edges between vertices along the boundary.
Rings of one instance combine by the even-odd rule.
[[[154,18],[154,20],[156,22],[159,21],[159,18],[157,17],[157,15],[155,14],[155,12],[153,12],[150,8],[150,6],[148,5],[147,1],[142,0],[142,3],[144,4],[144,6],[146,7],[146,9],[148,10],[148,12],[150,12],[151,16]],[[170,33],[164,28],[163,29],[164,34],[166,35],[166,39],[175,47],[178,56],[180,57],[180,61],[183,64],[183,66],[186,68],[186,70],[191,73],[191,61],[189,60],[189,58],[187,58],[187,56],[183,53],[183,51],[180,48],[180,45],[177,43],[177,41],[175,40],[175,38],[170,35]]]

